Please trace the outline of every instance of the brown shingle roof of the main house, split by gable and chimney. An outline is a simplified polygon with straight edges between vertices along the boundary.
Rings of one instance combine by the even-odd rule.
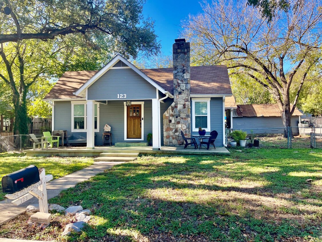
[[[144,74],[173,94],[173,69],[142,69]],[[77,91],[97,71],[66,71],[45,99],[77,98]],[[191,94],[232,94],[226,66],[191,66]]]

